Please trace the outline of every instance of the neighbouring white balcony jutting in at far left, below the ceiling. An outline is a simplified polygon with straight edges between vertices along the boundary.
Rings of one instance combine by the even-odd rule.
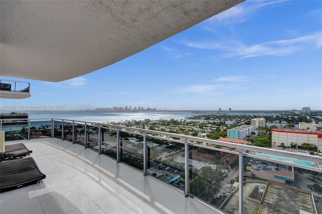
[[[29,82],[0,79],[0,98],[23,99],[30,96]]]

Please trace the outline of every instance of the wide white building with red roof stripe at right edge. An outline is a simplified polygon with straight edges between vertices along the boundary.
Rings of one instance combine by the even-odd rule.
[[[291,147],[308,143],[317,146],[317,151],[322,151],[322,131],[275,128],[271,130],[271,133],[272,146],[280,146],[283,143],[286,147]]]

